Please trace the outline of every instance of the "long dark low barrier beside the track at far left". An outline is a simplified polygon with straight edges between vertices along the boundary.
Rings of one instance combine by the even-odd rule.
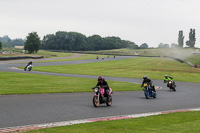
[[[41,59],[44,56],[13,56],[13,57],[0,57],[0,60],[19,60],[19,59]]]

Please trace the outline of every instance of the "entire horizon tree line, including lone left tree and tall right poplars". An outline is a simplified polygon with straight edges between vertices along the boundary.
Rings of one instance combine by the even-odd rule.
[[[190,29],[189,40],[186,41],[188,47],[195,47],[195,29]],[[183,31],[179,31],[178,44],[173,43],[171,47],[183,47]],[[78,32],[58,31],[55,34],[48,34],[40,40],[37,32],[29,33],[26,39],[10,39],[8,36],[0,37],[0,49],[2,47],[24,46],[28,53],[37,53],[39,49],[44,50],[68,50],[68,51],[98,51],[120,48],[149,48],[143,43],[138,47],[134,42],[121,40],[119,37],[101,37],[92,35],[86,37]],[[160,43],[158,48],[169,48],[168,44]]]

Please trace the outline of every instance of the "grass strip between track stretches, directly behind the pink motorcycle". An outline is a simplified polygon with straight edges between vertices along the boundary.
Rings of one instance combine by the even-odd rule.
[[[0,94],[91,92],[96,79],[0,72]],[[142,90],[139,84],[108,81],[113,91]]]

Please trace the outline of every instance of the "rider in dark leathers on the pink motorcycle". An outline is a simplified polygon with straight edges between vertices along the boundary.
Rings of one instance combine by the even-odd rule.
[[[108,83],[105,81],[104,77],[102,77],[102,76],[98,77],[98,83],[96,86],[100,86],[100,87],[104,88],[105,89],[104,96],[108,97],[110,89],[109,89]]]

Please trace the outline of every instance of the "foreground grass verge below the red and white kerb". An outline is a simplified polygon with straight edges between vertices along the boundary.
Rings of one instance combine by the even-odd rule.
[[[99,121],[47,128],[28,133],[199,133],[200,111],[162,114],[126,120]]]

